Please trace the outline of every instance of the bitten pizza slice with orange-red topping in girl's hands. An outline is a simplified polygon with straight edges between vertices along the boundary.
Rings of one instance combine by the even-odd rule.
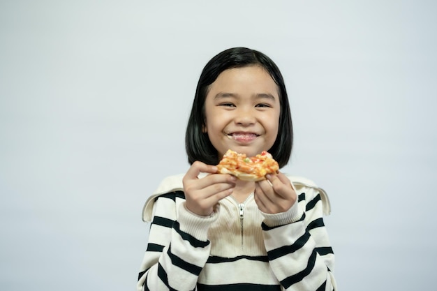
[[[278,163],[267,151],[247,157],[246,154],[238,154],[231,149],[226,151],[217,167],[219,173],[232,174],[244,181],[261,181],[266,174],[279,170]]]

